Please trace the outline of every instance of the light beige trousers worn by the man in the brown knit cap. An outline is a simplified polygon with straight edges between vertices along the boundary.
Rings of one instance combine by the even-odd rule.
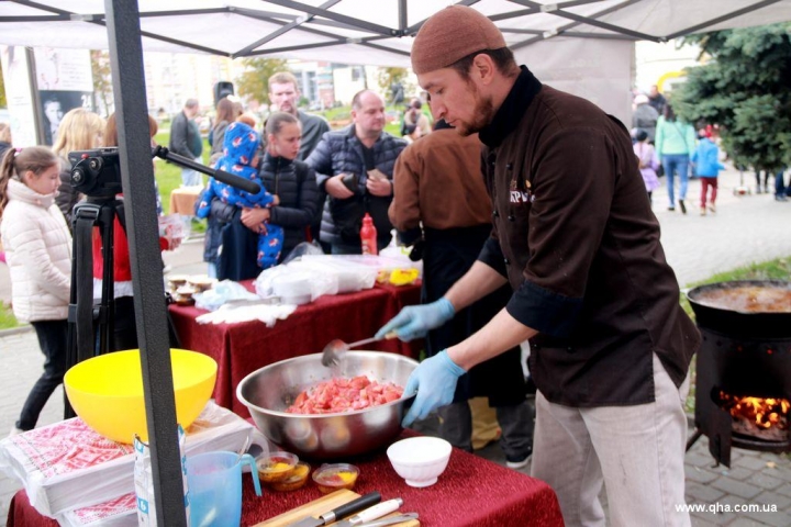
[[[617,382],[617,381],[615,381]],[[654,356],[655,401],[575,408],[536,394],[531,475],[557,493],[568,527],[604,526],[606,487],[614,527],[689,526],[684,504],[689,375],[676,388]]]

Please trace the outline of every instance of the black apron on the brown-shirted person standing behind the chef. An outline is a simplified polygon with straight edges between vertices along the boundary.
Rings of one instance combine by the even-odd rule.
[[[490,234],[491,225],[425,228],[421,299],[423,303],[439,300],[472,267]],[[461,310],[442,327],[428,332],[428,356],[434,356],[476,333],[505,307],[509,299],[511,288],[506,284]],[[517,346],[481,362],[463,375],[456,385],[454,402],[486,396],[489,397],[491,406],[505,406],[523,402],[525,395],[526,383]]]

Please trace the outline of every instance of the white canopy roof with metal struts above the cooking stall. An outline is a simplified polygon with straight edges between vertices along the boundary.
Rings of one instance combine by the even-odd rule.
[[[423,21],[453,3],[494,20],[517,56],[558,36],[661,42],[791,20],[791,0],[138,0],[147,51],[403,67]],[[104,2],[5,0],[0,44],[107,48]]]

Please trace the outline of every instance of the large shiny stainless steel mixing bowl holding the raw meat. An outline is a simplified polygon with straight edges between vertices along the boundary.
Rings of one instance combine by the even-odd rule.
[[[404,407],[414,396],[339,414],[303,415],[285,411],[297,395],[335,377],[366,374],[406,385],[417,362],[382,351],[347,351],[339,370],[321,363],[321,354],[296,357],[254,371],[236,389],[258,428],[283,449],[309,459],[357,456],[388,445],[401,433]]]

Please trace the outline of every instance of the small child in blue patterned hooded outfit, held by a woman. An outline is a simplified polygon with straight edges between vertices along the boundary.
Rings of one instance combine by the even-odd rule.
[[[203,192],[201,201],[198,204],[198,217],[208,217],[211,213],[211,202],[214,198],[222,200],[224,203],[244,209],[271,208],[279,203],[279,199],[275,194],[267,192],[266,188],[258,178],[258,170],[254,167],[258,165],[258,146],[260,136],[258,133],[245,123],[231,123],[225,128],[225,139],[223,142],[223,156],[218,159],[214,168],[224,170],[257,182],[260,191],[257,194],[250,194],[244,190],[235,189],[230,184],[222,183],[214,178],[209,179],[209,188]],[[283,229],[279,225],[263,223],[258,227],[258,267],[267,269],[277,265],[280,251],[282,250]]]

